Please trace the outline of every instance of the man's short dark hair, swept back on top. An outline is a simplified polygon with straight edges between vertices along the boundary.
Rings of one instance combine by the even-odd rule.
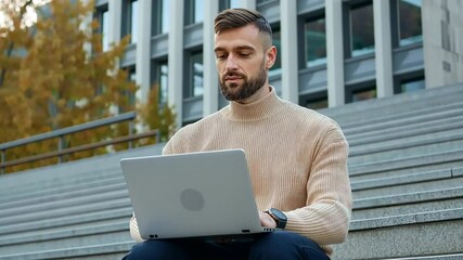
[[[259,12],[249,9],[228,9],[216,16],[214,29],[216,34],[224,30],[236,29],[248,24],[254,24],[260,32],[269,35],[272,39],[272,27]]]

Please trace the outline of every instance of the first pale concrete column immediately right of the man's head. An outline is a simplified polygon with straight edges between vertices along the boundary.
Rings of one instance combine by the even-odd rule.
[[[299,103],[297,67],[297,1],[287,1],[281,6],[282,98]],[[276,53],[279,55],[279,53]]]

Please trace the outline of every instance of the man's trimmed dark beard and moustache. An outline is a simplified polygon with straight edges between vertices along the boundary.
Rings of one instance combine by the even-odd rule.
[[[244,82],[241,86],[236,83],[230,83],[229,86],[227,86],[226,83],[227,76],[240,76],[243,78]],[[248,80],[246,76],[241,73],[233,73],[233,72],[228,73],[220,80],[220,90],[222,92],[222,95],[229,101],[244,100],[252,96],[260,88],[262,88],[263,84],[266,83],[266,80],[267,80],[267,72],[262,64],[259,75],[255,79]]]

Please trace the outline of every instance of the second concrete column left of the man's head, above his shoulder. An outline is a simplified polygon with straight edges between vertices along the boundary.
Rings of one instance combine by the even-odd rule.
[[[172,0],[169,6],[168,101],[175,106],[177,128],[183,119],[183,0]]]

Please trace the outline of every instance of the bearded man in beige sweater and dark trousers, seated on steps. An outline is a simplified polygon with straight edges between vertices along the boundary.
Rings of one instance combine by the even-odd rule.
[[[163,153],[243,148],[260,222],[284,231],[250,242],[147,240],[126,259],[330,259],[351,212],[343,132],[332,119],[276,96],[268,80],[276,48],[258,12],[226,10],[215,31],[220,89],[230,104],[180,129]],[[142,242],[134,217],[130,232]]]

